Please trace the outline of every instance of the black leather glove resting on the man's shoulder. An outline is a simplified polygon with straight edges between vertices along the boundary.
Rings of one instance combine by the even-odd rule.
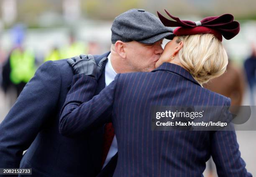
[[[67,62],[74,71],[74,74],[85,74],[98,79],[108,61],[107,57],[96,64],[92,55],[80,55],[67,59]]]

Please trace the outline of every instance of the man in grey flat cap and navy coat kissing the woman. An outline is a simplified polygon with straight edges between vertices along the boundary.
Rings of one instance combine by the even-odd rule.
[[[108,57],[94,94],[116,73],[153,70],[163,52],[161,40],[172,35],[171,28],[140,9],[119,15],[111,30],[111,53],[94,56],[100,66]],[[99,172],[98,176],[106,177],[113,173],[117,145],[112,142],[111,124],[72,139],[59,134],[60,111],[73,76],[67,60],[48,61],[38,68],[0,124],[0,168],[32,168],[36,177],[91,177]],[[104,133],[104,129],[109,131]]]

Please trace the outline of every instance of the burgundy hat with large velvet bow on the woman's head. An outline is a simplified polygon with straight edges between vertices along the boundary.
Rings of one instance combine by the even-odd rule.
[[[176,21],[165,18],[159,12],[157,12],[158,17],[165,26],[178,27],[173,31],[174,35],[210,33],[222,41],[222,36],[225,39],[231,39],[235,37],[240,30],[240,24],[237,21],[234,21],[234,17],[231,14],[206,17],[200,21],[193,22],[188,20],[180,20],[179,18],[169,14],[166,10],[165,12],[167,15],[169,15],[169,17]]]

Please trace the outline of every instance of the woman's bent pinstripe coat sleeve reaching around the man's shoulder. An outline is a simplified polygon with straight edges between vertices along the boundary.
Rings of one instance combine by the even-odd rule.
[[[93,97],[97,87],[95,78],[84,74],[75,75],[61,110],[60,133],[74,137],[110,122],[118,77]]]

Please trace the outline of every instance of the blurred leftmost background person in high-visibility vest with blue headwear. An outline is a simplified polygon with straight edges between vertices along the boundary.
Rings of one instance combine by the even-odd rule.
[[[12,29],[14,47],[3,66],[3,89],[6,93],[13,86],[16,98],[36,71],[35,55],[23,47],[24,30],[23,25],[15,25]]]

